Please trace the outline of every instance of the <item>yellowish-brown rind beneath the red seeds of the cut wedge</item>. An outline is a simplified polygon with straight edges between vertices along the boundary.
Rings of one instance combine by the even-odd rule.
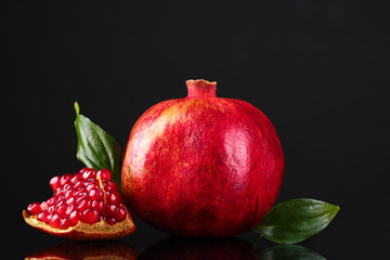
[[[37,230],[73,240],[113,239],[135,232],[135,225],[129,212],[127,212],[123,221],[117,222],[114,225],[109,225],[102,219],[94,224],[87,224],[79,221],[76,225],[69,226],[66,230],[55,229],[50,224],[39,221],[37,219],[38,216],[30,216],[26,210],[23,210],[23,218],[27,224]]]

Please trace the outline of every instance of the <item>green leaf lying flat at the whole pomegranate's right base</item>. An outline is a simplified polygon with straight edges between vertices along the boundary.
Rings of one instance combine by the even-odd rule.
[[[272,208],[253,231],[278,244],[294,244],[325,229],[338,210],[338,206],[321,200],[291,199]]]

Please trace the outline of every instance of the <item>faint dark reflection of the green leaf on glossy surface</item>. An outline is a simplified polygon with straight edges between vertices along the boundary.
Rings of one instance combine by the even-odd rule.
[[[281,245],[268,248],[256,256],[257,260],[326,260],[323,256],[298,245]]]

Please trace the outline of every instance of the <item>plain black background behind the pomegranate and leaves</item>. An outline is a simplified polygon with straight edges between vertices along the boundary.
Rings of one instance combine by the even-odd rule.
[[[386,1],[382,1],[386,2]],[[53,246],[22,209],[76,172],[74,102],[125,147],[185,80],[218,81],[273,122],[286,168],[277,203],[341,207],[302,245],[328,259],[385,259],[389,213],[389,6],[366,1],[14,1],[2,8],[2,223],[16,258]],[[5,202],[5,204],[4,204]],[[122,240],[166,237],[140,219]],[[5,227],[12,227],[5,231]],[[252,242],[253,233],[242,238]],[[266,247],[268,243],[260,245]],[[272,244],[271,244],[272,245]]]

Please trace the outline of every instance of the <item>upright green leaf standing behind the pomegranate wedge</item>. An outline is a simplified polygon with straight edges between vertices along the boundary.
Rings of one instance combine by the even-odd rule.
[[[87,167],[95,170],[108,169],[112,180],[121,187],[121,152],[119,144],[102,128],[88,117],[80,115],[80,108],[75,102],[77,132],[77,158]]]

